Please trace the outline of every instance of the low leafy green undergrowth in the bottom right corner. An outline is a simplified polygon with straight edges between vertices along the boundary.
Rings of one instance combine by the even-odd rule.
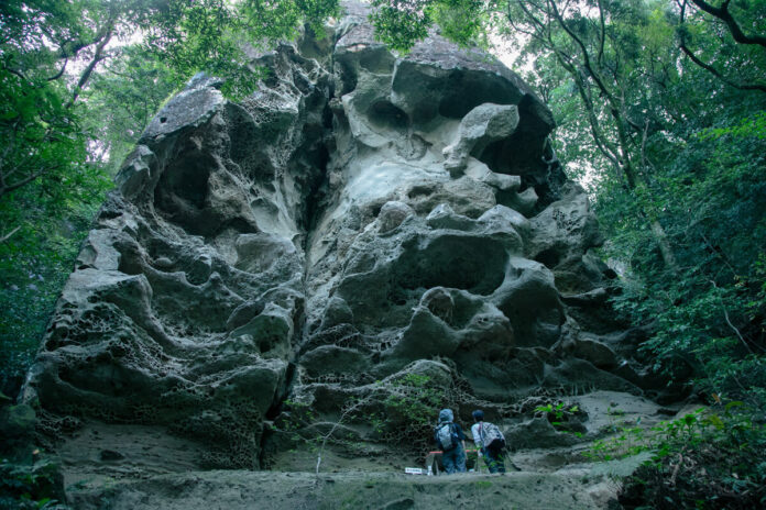
[[[763,411],[732,401],[648,431],[624,428],[595,442],[589,455],[609,461],[643,451],[653,456],[623,480],[620,503],[625,509],[766,508]]]

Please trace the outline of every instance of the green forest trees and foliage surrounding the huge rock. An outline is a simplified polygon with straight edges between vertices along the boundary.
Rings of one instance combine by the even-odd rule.
[[[588,187],[609,240],[601,256],[621,276],[612,302],[650,331],[647,359],[708,402],[763,409],[766,1],[370,3],[377,37],[402,53],[431,31],[513,48],[554,112],[558,159]],[[92,214],[164,101],[198,71],[222,78],[229,98],[248,96],[263,78],[249,48],[321,34],[340,9],[337,0],[0,3],[3,393],[18,391]],[[763,444],[732,437],[737,451]],[[757,469],[763,480],[766,466]]]

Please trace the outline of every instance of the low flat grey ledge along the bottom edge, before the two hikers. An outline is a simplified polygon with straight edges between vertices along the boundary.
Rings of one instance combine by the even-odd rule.
[[[196,472],[85,484],[69,491],[88,510],[404,510],[608,508],[616,484],[587,470],[438,477],[393,473]]]

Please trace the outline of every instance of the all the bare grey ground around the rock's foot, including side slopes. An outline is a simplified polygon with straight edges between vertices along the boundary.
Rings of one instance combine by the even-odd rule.
[[[620,424],[652,426],[671,418],[627,393],[598,391],[577,400],[593,437]],[[275,470],[203,470],[193,442],[151,426],[89,423],[57,453],[77,510],[619,508],[616,476],[631,474],[648,454],[589,462],[581,455],[589,446],[516,451],[508,464],[519,470],[505,475],[433,477],[405,475],[404,467],[422,467],[414,459],[326,452],[317,477],[310,451],[285,452]]]

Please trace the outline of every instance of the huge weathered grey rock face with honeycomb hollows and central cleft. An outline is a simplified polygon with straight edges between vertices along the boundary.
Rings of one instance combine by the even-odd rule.
[[[286,399],[322,430],[408,374],[459,381],[463,414],[646,387],[547,108],[438,36],[395,57],[347,7],[327,38],[254,56],[271,74],[247,100],[199,77],[149,125],[25,388],[48,431],[160,426],[199,465],[251,467]]]

